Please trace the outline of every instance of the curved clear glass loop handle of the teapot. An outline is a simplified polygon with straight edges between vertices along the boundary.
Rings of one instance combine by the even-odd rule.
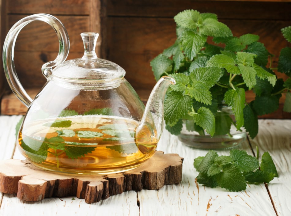
[[[60,47],[58,56],[54,61],[43,64],[41,68],[43,75],[47,79],[51,75],[52,67],[55,67],[66,60],[70,48],[70,41],[66,28],[63,26],[61,21],[59,21],[59,19],[50,14],[38,13],[24,17],[15,23],[9,30],[3,45],[4,72],[11,90],[26,107],[30,106],[32,98],[26,93],[17,77],[14,65],[14,47],[17,36],[21,29],[32,21],[44,21],[48,23],[55,30],[59,39]]]

